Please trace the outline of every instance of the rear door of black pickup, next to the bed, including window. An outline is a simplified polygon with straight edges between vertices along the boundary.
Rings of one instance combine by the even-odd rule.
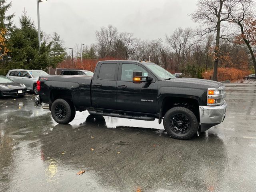
[[[92,80],[92,106],[116,109],[116,82],[119,62],[98,64]]]

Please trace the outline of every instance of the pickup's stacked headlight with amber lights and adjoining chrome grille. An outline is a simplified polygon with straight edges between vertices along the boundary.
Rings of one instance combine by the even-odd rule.
[[[225,96],[225,86],[220,86],[218,89],[209,88],[207,91],[207,105],[222,105],[224,103]]]

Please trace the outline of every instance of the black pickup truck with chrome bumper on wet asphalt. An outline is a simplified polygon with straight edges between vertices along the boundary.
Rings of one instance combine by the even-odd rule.
[[[226,116],[225,86],[176,78],[144,61],[101,61],[93,76],[42,76],[36,105],[49,104],[52,117],[68,124],[76,111],[137,120],[163,120],[166,132],[189,139],[220,124]]]

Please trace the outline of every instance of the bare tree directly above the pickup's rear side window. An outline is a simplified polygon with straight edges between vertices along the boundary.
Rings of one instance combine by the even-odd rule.
[[[99,31],[96,31],[95,34],[99,56],[101,58],[113,56],[114,43],[118,37],[117,29],[112,25],[109,25],[107,28],[102,26]]]

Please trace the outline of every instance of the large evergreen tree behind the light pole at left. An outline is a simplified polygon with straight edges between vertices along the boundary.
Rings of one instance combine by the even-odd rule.
[[[20,17],[20,28],[16,28],[11,36],[12,62],[8,68],[43,69],[51,65],[50,58],[51,44],[42,42],[40,50],[38,48],[38,31],[34,21],[27,16],[26,12]]]

